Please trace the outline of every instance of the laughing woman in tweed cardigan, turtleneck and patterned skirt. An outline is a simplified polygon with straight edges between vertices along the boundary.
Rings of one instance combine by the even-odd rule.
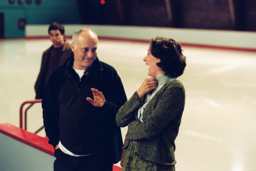
[[[116,116],[118,126],[128,125],[123,171],[175,170],[174,141],[185,103],[184,87],[176,78],[183,74],[185,60],[176,40],[151,40],[143,61],[152,78],[144,80]]]

